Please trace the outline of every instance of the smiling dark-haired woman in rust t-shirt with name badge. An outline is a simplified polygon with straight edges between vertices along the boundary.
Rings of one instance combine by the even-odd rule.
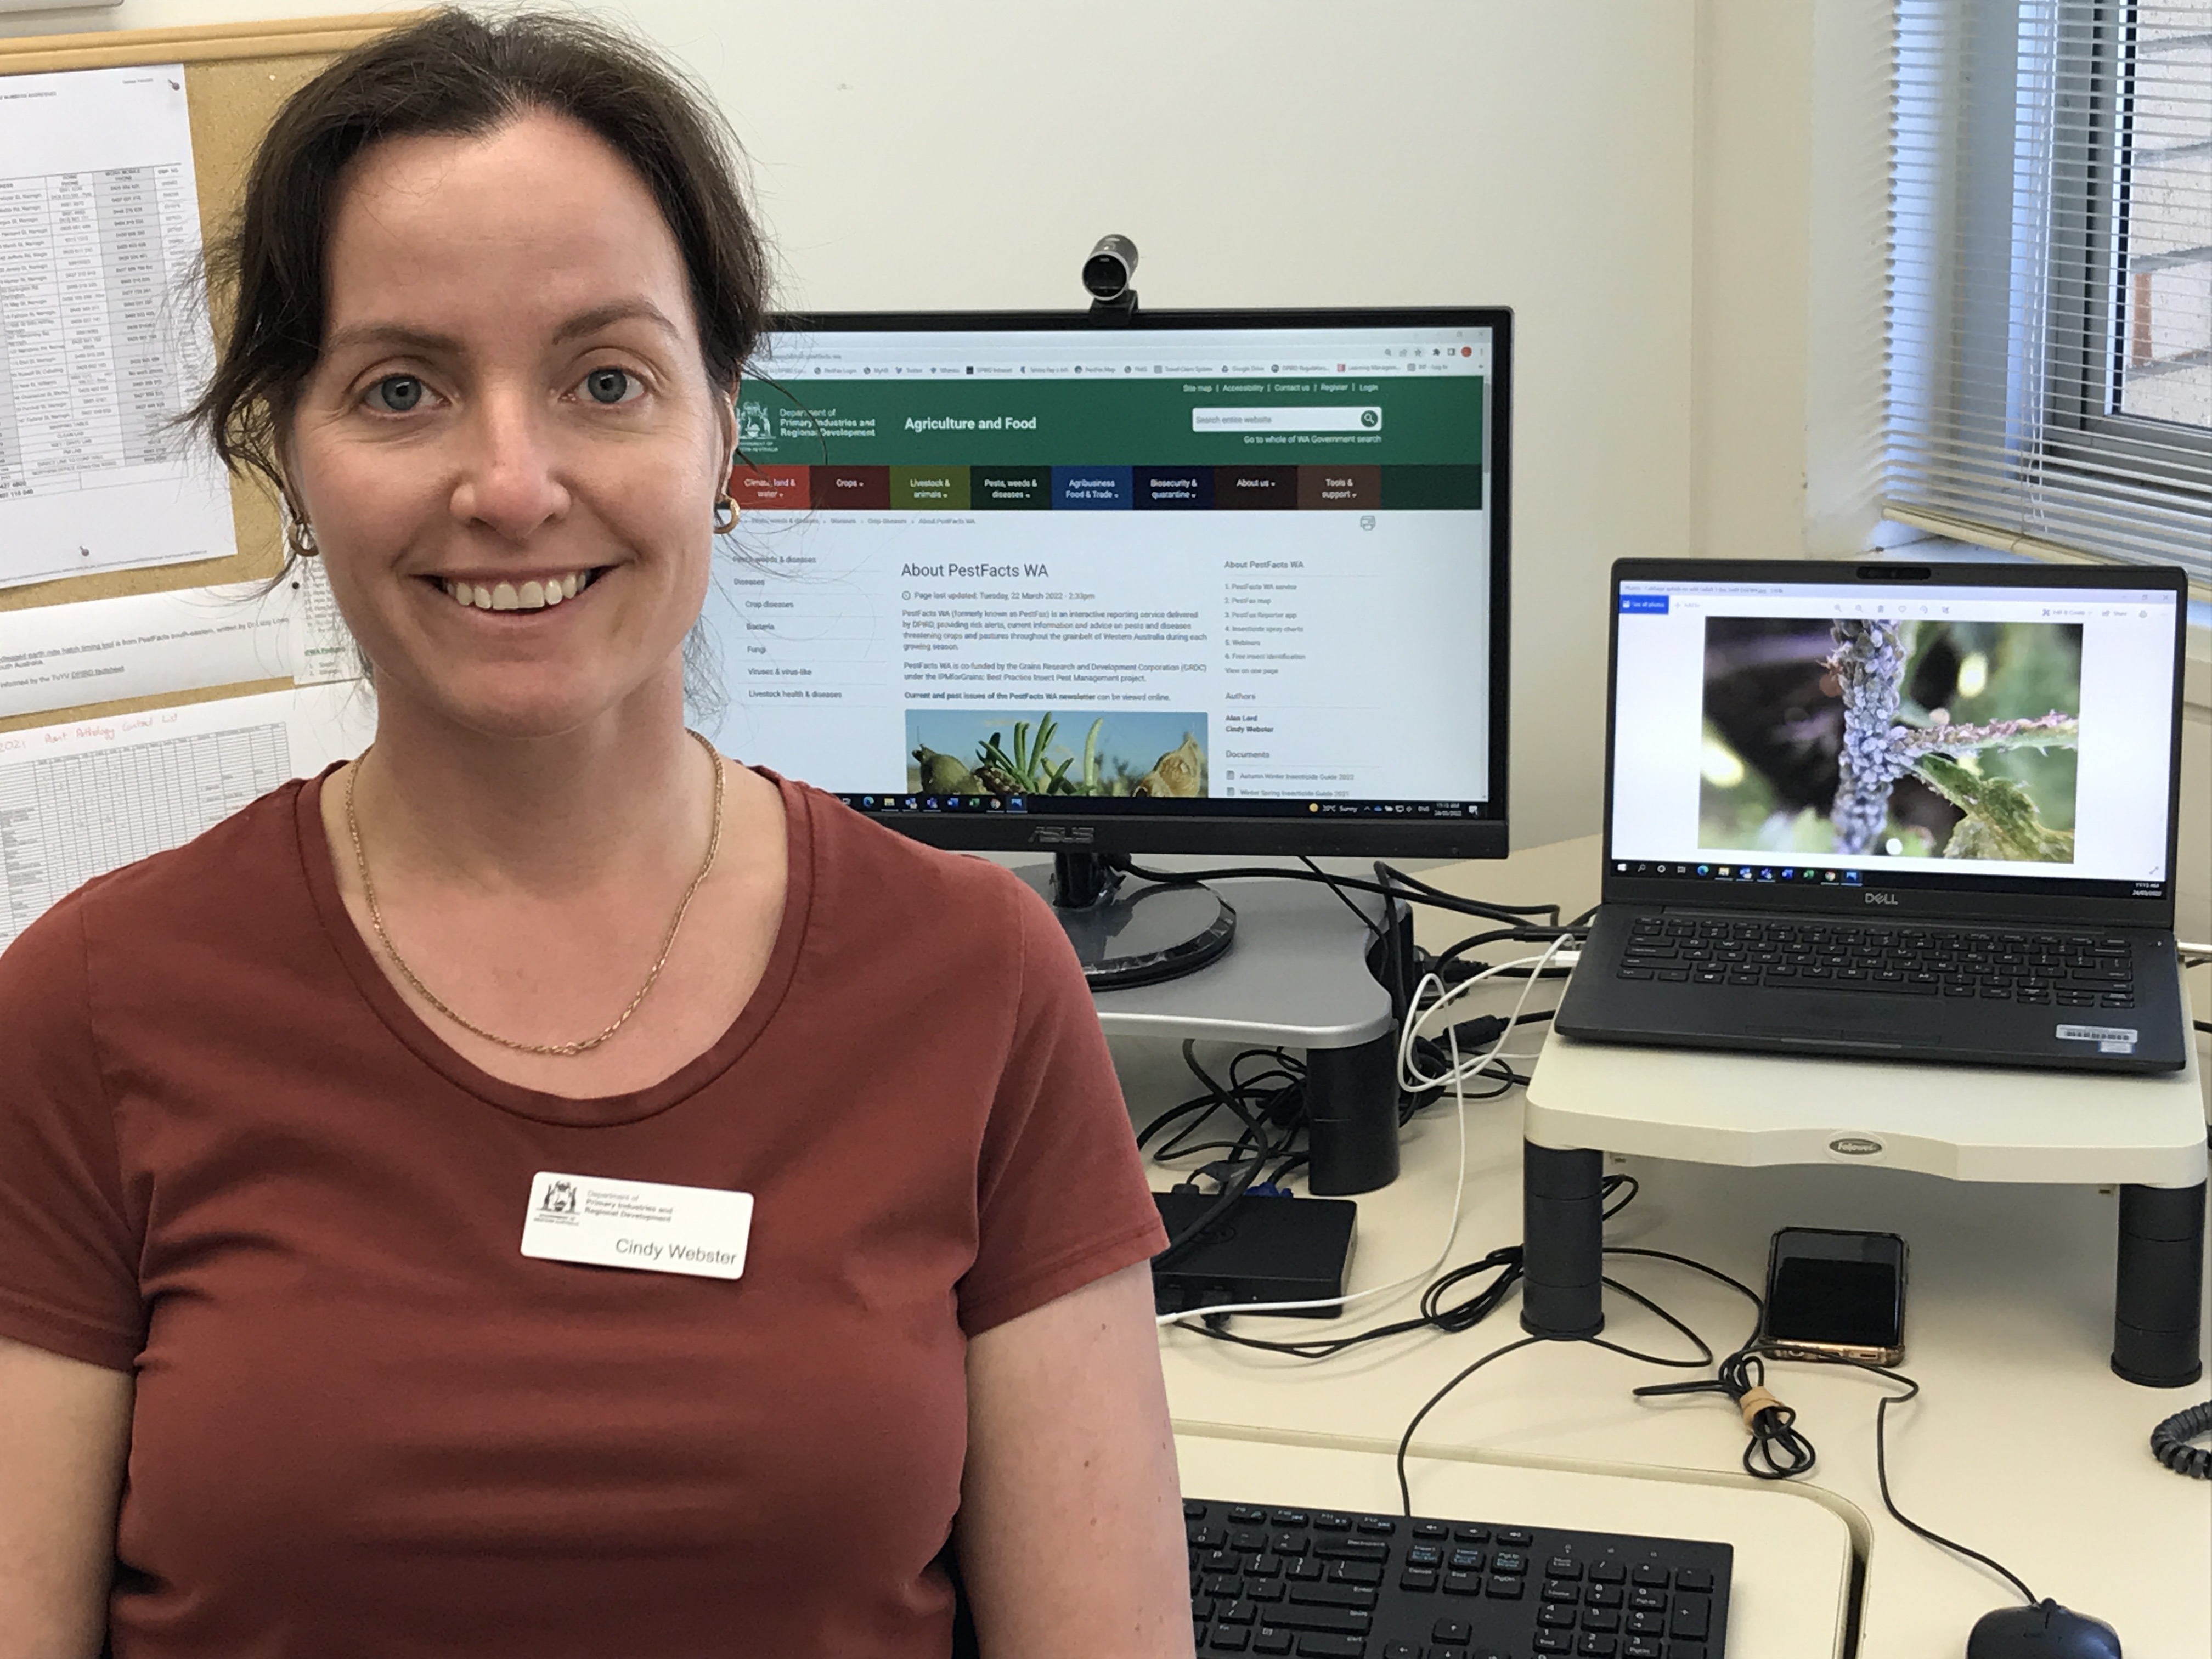
[[[1055,925],[684,730],[761,323],[717,131],[442,13],[263,146],[199,418],[376,743],[0,958],[0,1659],[940,1655],[953,1555],[987,1655],[1190,1650]],[[741,1274],[588,1265],[606,1183]]]

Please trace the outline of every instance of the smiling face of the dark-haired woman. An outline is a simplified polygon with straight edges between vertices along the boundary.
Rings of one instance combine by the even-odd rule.
[[[553,737],[681,686],[734,422],[628,164],[535,113],[378,144],[327,265],[285,460],[378,697]]]

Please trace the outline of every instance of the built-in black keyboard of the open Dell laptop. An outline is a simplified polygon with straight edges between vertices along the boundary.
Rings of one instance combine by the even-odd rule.
[[[1639,916],[1621,980],[2132,1009],[2135,947],[2110,933]]]

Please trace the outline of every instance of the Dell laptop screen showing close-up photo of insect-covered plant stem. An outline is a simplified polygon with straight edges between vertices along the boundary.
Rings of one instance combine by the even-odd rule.
[[[2170,902],[2179,584],[1867,568],[1617,568],[1608,878]]]

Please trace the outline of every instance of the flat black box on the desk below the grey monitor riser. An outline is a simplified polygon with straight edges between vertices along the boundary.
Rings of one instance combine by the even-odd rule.
[[[1212,1192],[1155,1192],[1170,1239],[1181,1239],[1219,1203]],[[1352,1270],[1352,1199],[1234,1199],[1197,1239],[1152,1263],[1152,1307],[1307,1303],[1345,1294]],[[1343,1305],[1305,1307],[1298,1318],[1336,1318]]]

